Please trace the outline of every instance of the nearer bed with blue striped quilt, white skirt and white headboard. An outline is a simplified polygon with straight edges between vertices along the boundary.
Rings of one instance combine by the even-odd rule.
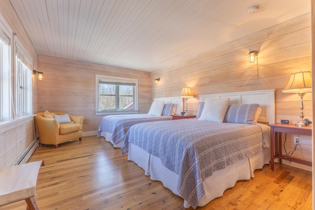
[[[207,119],[213,97],[229,98],[222,122]],[[264,123],[274,122],[274,90],[200,95],[199,101],[206,102],[198,119],[136,124],[121,149],[145,175],[181,196],[186,208],[208,204],[270,160]],[[257,107],[263,110],[259,122],[253,119]]]

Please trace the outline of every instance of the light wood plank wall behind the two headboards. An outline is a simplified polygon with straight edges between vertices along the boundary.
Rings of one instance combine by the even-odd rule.
[[[311,71],[311,13],[242,37],[170,68],[152,72],[152,98],[179,96],[190,87],[195,98],[188,100],[189,113],[198,110],[198,95],[220,92],[275,89],[275,120],[299,120],[300,97],[283,93],[290,74]],[[248,53],[258,51],[257,60]],[[154,85],[155,78],[160,78]],[[312,119],[312,93],[304,96],[305,118]],[[293,141],[293,140],[292,140]],[[287,150],[292,151],[291,142]],[[293,156],[312,159],[312,139],[301,137]]]

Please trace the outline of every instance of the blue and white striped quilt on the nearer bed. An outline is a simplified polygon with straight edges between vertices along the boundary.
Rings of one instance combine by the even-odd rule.
[[[157,156],[166,168],[179,175],[178,193],[196,208],[204,195],[202,181],[214,171],[262,150],[269,133],[269,127],[259,123],[197,119],[141,123],[128,130],[122,153],[132,143]]]

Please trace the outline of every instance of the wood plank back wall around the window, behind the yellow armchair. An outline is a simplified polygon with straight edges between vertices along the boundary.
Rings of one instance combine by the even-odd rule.
[[[38,112],[84,116],[83,132],[97,131],[104,115],[95,115],[95,74],[138,79],[139,113],[151,106],[151,73],[88,62],[38,56],[44,80],[38,82]]]

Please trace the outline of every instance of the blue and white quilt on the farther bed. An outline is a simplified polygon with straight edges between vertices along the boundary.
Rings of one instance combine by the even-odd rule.
[[[172,116],[152,116],[148,114],[108,115],[102,118],[98,127],[97,137],[102,131],[112,134],[112,141],[116,145],[124,140],[128,129],[137,123],[172,120]]]

